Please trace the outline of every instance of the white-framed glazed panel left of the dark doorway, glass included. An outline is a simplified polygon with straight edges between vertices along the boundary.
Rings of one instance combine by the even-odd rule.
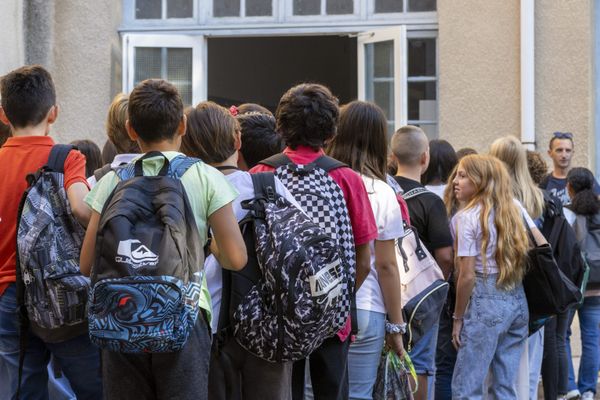
[[[205,93],[202,51],[204,37],[183,35],[126,35],[123,86],[131,91],[144,79],[171,82],[185,105],[196,104]]]

